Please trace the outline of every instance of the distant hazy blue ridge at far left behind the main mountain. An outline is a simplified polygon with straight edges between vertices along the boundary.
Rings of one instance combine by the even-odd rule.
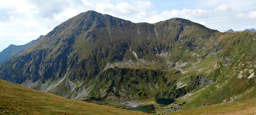
[[[22,51],[24,51],[25,49],[29,48],[34,43],[39,41],[42,37],[44,37],[44,36],[41,35],[36,40],[32,40],[31,42],[29,42],[25,45],[16,46],[14,44],[11,44],[7,48],[3,49],[3,51],[0,52],[0,64],[3,64],[3,62],[7,61],[8,59],[12,58],[13,56],[15,56],[15,55],[21,53]]]

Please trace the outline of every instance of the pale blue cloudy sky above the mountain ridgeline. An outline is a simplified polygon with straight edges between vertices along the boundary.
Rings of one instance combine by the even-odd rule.
[[[221,32],[256,28],[256,0],[0,0],[0,51],[88,10],[134,23],[178,17]]]

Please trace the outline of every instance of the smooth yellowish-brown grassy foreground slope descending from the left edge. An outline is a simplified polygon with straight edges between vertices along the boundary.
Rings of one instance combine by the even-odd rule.
[[[122,110],[28,89],[0,79],[0,114],[83,114],[136,115],[142,112]]]

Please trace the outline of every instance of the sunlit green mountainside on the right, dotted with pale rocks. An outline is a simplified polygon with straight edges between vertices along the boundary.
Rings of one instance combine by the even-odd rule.
[[[188,72],[183,74],[185,77],[206,74],[217,80],[178,99],[178,102],[186,102],[182,107],[184,110],[201,107],[204,103],[212,105],[222,103],[223,100],[228,102],[231,98],[237,101],[256,98],[255,77],[248,79],[255,72],[256,33],[219,34],[221,35],[217,40],[222,45],[220,48],[223,48],[219,49],[217,58],[209,55],[196,66],[188,67]],[[225,58],[231,59],[231,62],[225,62]],[[198,69],[201,71],[197,72]],[[248,70],[252,70],[251,73]],[[243,71],[241,79],[238,78],[240,71]]]

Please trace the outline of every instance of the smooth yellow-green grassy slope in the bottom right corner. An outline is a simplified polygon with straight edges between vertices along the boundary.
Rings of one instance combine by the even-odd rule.
[[[170,113],[171,115],[255,115],[256,114],[256,99],[244,102],[232,102],[230,104],[217,104],[206,107],[185,110],[181,112]]]

